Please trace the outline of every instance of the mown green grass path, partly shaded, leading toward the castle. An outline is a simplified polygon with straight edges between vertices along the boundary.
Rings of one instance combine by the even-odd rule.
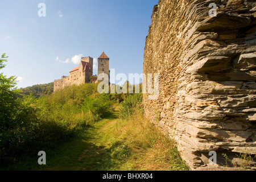
[[[69,142],[52,151],[46,151],[47,165],[32,167],[32,170],[108,170],[112,166],[111,140],[118,111],[98,121]]]

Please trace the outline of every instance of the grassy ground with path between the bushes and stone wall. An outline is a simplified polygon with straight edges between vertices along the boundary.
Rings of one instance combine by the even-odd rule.
[[[116,108],[117,109],[117,108]],[[46,151],[46,165],[39,156],[23,160],[8,170],[122,171],[189,170],[175,143],[139,115],[118,119],[119,111],[94,123],[75,138]],[[6,170],[5,169],[5,170]]]

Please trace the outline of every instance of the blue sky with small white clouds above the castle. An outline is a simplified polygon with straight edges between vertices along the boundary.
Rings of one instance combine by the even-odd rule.
[[[42,2],[46,17],[38,16]],[[45,84],[68,76],[80,56],[97,59],[102,52],[115,74],[142,73],[144,44],[157,4],[158,0],[1,0],[0,54],[9,56],[3,73],[17,76],[18,87]]]

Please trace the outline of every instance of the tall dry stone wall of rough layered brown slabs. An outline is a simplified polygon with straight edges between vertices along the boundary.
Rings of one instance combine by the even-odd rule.
[[[160,0],[151,19],[144,73],[159,73],[159,98],[144,94],[145,116],[191,169],[255,169],[241,156],[256,154],[256,1]]]

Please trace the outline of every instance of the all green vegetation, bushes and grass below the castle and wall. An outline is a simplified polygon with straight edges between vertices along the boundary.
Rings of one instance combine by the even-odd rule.
[[[26,96],[15,77],[1,73],[0,82],[2,170],[189,169],[175,142],[143,118],[142,94],[99,94],[97,84],[83,84]]]

